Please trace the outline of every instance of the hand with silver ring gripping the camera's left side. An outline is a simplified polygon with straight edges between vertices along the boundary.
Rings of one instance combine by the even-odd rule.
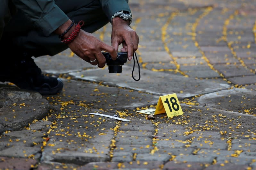
[[[80,58],[92,65],[98,65],[99,68],[103,68],[106,64],[106,59],[101,52],[102,50],[110,53],[113,60],[117,57],[117,51],[114,47],[107,45],[103,41],[97,39],[93,34],[87,33],[82,29],[78,36],[70,42],[68,46],[70,50]]]

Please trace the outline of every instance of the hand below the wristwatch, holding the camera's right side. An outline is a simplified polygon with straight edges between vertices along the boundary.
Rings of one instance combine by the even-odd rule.
[[[121,51],[128,52],[128,60],[131,60],[133,53],[138,49],[139,36],[129,26],[129,21],[115,17],[112,19],[111,45],[118,51],[120,44],[123,45]]]

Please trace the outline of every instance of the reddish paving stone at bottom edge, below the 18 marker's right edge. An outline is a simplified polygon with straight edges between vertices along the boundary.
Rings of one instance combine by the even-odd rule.
[[[174,163],[173,161],[167,162],[164,170],[202,170],[205,167],[201,163],[187,162],[187,163]]]

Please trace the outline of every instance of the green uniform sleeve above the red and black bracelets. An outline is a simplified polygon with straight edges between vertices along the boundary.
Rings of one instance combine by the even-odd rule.
[[[54,0],[13,0],[13,3],[46,36],[69,19]]]

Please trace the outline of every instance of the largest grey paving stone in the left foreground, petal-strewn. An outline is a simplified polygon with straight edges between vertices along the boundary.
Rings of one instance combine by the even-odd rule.
[[[67,121],[69,121],[69,119]],[[98,135],[101,131],[95,134],[96,129],[97,127],[95,127],[95,129],[91,128],[90,130],[92,130],[92,132],[86,131],[88,137],[82,137],[84,131],[82,127],[79,129],[69,129],[70,134],[74,133],[72,132],[73,130],[76,131],[74,135],[67,135],[67,137],[62,137],[61,135],[53,136],[56,132],[52,130],[49,136],[50,140],[44,147],[41,162],[66,162],[84,165],[92,161],[110,160],[110,156],[108,155],[110,148],[108,146],[111,144],[113,131],[104,130],[105,135]],[[79,137],[78,132],[80,132],[81,137]],[[59,148],[62,149],[58,151]]]

